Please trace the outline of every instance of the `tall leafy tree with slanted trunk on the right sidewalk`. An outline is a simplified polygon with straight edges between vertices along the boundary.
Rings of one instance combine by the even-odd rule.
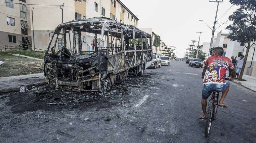
[[[240,6],[229,16],[229,20],[233,21],[233,24],[229,25],[226,29],[231,31],[231,34],[228,36],[231,41],[240,42],[246,47],[242,70],[238,78],[238,80],[242,80],[249,50],[255,44],[256,40],[256,1],[230,0],[230,3]],[[248,43],[247,46],[245,43]]]

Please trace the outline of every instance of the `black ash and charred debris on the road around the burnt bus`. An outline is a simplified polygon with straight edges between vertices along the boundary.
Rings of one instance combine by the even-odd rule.
[[[129,103],[130,94],[137,90],[145,90],[153,83],[149,80],[150,75],[143,77],[128,76],[128,79],[111,87],[111,90],[105,94],[100,92],[73,92],[60,90],[50,85],[38,86],[31,89],[34,93],[33,102],[46,102],[47,105],[59,105],[78,107],[82,103],[95,102],[98,100],[107,100],[111,102],[120,102],[122,105]],[[151,85],[150,85],[151,84]]]

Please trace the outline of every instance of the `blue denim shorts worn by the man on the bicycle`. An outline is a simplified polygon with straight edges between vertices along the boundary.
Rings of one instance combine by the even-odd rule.
[[[203,84],[202,90],[202,98],[207,99],[212,92],[211,91],[219,91],[223,92],[229,87],[229,81],[225,81],[226,84]]]

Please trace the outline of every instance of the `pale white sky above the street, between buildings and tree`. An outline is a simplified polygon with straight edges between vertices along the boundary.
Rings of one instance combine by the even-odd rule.
[[[126,7],[138,16],[138,28],[153,28],[153,32],[160,36],[161,40],[170,46],[177,47],[175,52],[178,58],[183,58],[191,40],[198,41],[199,33],[203,32],[200,38],[200,45],[203,42],[210,42],[212,31],[204,23],[204,20],[211,28],[214,24],[217,3],[210,3],[209,0],[121,0]],[[211,0],[216,1],[216,0]],[[219,5],[217,20],[231,8],[229,0],[223,0]],[[233,6],[218,22],[226,22],[237,7]],[[226,23],[232,24],[232,21]],[[228,33],[225,28],[228,24],[219,27],[217,23],[215,36],[222,30]],[[198,43],[196,43],[197,45]]]

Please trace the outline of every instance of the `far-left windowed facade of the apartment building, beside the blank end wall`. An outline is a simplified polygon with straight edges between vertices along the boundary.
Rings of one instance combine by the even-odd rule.
[[[29,0],[5,0],[0,7],[0,45],[31,46]]]

